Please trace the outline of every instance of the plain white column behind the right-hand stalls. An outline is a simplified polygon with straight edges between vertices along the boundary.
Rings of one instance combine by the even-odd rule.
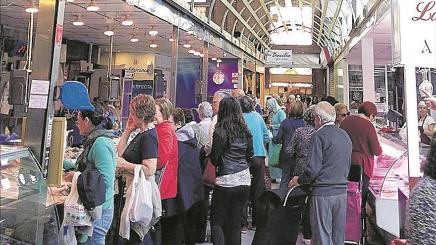
[[[362,74],[363,74],[363,100],[376,100],[374,81],[374,41],[373,38],[362,39]]]

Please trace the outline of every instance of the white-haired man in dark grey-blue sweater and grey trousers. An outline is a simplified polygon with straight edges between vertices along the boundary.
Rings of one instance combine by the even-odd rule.
[[[309,147],[309,165],[289,185],[311,183],[312,245],[344,244],[352,143],[348,134],[334,125],[336,113],[330,103],[318,103],[314,118],[317,131]]]

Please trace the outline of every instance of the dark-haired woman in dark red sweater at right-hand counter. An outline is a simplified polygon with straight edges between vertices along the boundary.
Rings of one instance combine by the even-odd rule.
[[[362,176],[362,208],[365,209],[368,187],[373,176],[374,156],[382,154],[376,128],[371,123],[377,116],[377,107],[373,102],[365,101],[360,104],[358,115],[347,116],[340,128],[348,133],[353,143],[351,163],[363,167]]]

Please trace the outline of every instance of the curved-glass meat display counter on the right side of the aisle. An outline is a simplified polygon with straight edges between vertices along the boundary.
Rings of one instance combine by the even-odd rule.
[[[409,166],[407,145],[395,135],[378,132],[382,155],[375,157],[373,176],[369,185],[368,203],[372,208],[372,219],[382,229],[386,240],[399,238],[404,218],[405,205],[409,196]],[[420,155],[421,165],[426,156]],[[400,198],[405,196],[406,198]]]

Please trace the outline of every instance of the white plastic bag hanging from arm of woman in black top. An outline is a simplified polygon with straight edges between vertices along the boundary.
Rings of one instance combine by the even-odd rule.
[[[136,178],[137,182],[133,185],[132,207],[129,211],[130,221],[146,226],[150,224],[153,216],[152,185],[145,178],[142,165],[135,167],[133,179]]]

